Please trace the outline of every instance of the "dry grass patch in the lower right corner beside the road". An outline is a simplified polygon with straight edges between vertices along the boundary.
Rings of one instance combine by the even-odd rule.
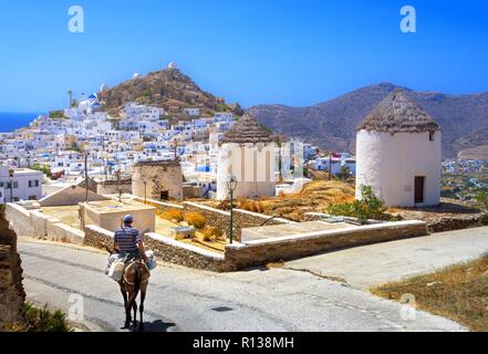
[[[398,301],[414,294],[419,309],[457,321],[471,331],[488,332],[488,257],[438,272],[373,289]]]

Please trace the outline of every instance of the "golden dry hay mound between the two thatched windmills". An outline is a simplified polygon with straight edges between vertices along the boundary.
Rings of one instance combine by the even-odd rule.
[[[352,202],[355,188],[339,180],[315,180],[299,194],[261,199],[264,212],[270,216],[303,221],[307,212],[326,212],[332,202]]]

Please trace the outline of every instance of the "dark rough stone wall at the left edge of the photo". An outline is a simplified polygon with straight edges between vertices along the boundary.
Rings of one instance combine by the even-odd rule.
[[[22,322],[24,301],[17,235],[9,229],[9,222],[0,210],[0,332],[4,324]]]

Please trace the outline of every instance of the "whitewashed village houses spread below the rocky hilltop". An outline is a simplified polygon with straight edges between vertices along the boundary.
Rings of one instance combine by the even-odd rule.
[[[167,72],[180,75],[175,63]],[[136,73],[131,82],[136,85],[141,80]],[[120,110],[104,110],[111,100],[101,98],[106,91],[103,84],[98,93],[82,94],[80,100],[70,92],[70,107],[39,116],[29,127],[0,134],[2,201],[39,200],[84,180],[86,175],[100,184],[117,178],[131,184],[136,164],[170,160],[179,162],[184,186],[191,190],[191,197],[216,198],[219,144],[238,115],[231,110],[175,107],[173,102],[166,108],[126,102]],[[267,195],[292,190],[294,179],[289,170],[297,159],[314,170],[332,169],[333,175],[354,176],[355,159],[349,153],[320,154],[318,147],[294,140],[287,146],[284,159],[273,170],[279,176],[280,165],[288,178],[277,192]],[[271,159],[280,160],[281,153],[276,149]],[[12,188],[9,174],[13,174]]]

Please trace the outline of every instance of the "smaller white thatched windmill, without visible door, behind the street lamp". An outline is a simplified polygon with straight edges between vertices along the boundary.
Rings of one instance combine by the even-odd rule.
[[[245,114],[219,142],[217,199],[229,197],[227,181],[237,179],[235,197],[274,196],[274,142],[253,116]]]

